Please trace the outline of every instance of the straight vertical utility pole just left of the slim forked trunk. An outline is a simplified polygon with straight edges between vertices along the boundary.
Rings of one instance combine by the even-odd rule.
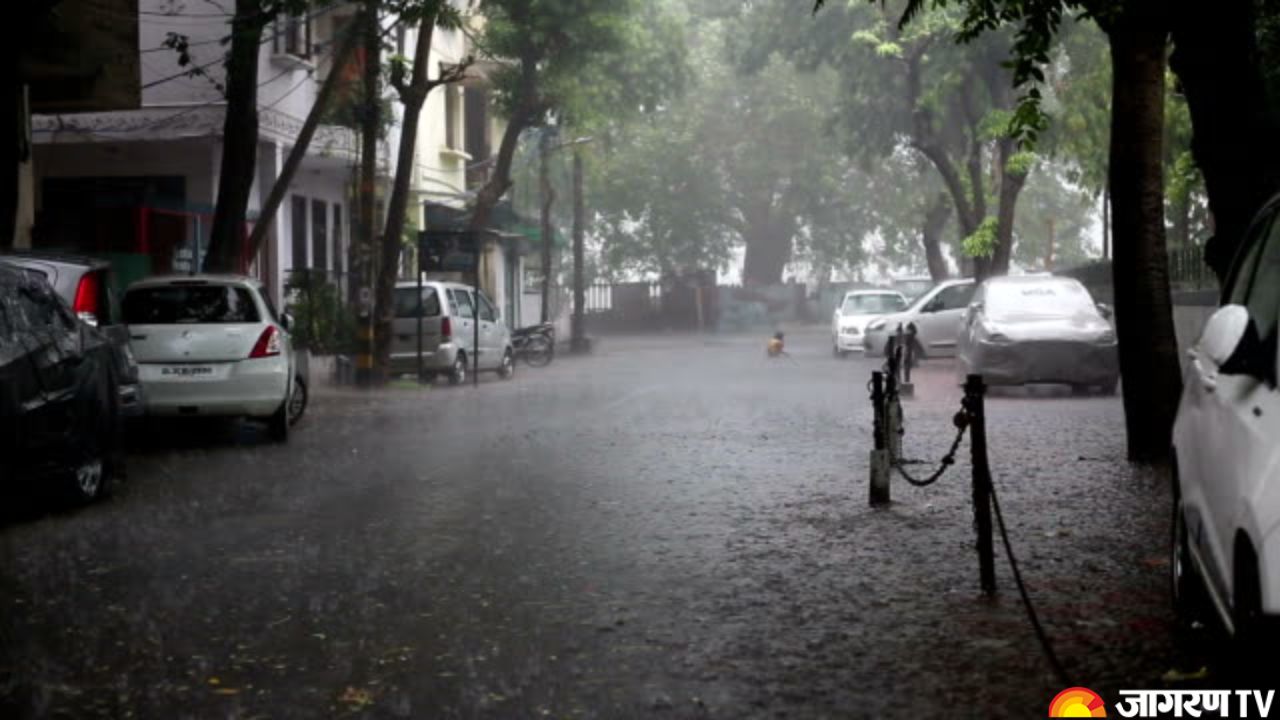
[[[378,0],[365,0],[365,67],[364,90],[365,97],[361,102],[360,113],[360,252],[356,259],[360,261],[353,268],[353,279],[360,283],[357,291],[358,302],[358,338],[360,350],[356,354],[356,382],[370,384],[374,369],[374,296],[372,296],[372,259],[378,249],[378,219],[374,217],[378,210],[378,126],[379,126],[379,76],[381,74],[381,32],[378,23]]]

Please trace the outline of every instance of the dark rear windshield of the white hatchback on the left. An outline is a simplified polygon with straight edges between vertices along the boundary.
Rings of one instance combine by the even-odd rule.
[[[225,284],[140,287],[124,296],[124,322],[131,325],[188,323],[257,323],[253,295]]]

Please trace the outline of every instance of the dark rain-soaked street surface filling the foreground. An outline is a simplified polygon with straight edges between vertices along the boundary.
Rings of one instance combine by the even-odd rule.
[[[788,350],[604,338],[479,388],[317,388],[288,446],[152,427],[108,502],[0,524],[0,715],[1043,716],[1064,685],[1002,555],[978,592],[968,443],[868,507],[877,363]],[[960,391],[915,379],[905,455],[936,460]],[[1071,680],[1221,680],[1175,632],[1169,480],[1124,462],[1120,401],[987,405]]]

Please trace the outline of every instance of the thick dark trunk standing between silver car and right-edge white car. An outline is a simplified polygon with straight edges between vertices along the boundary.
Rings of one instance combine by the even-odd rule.
[[[1181,393],[1165,254],[1166,32],[1160,0],[1134,3],[1107,36],[1114,68],[1110,187],[1116,329],[1129,459],[1167,459]]]

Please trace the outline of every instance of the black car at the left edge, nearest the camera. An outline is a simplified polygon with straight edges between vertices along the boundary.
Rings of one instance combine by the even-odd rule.
[[[108,491],[120,469],[113,355],[42,273],[0,261],[0,478],[52,480],[74,502]]]

